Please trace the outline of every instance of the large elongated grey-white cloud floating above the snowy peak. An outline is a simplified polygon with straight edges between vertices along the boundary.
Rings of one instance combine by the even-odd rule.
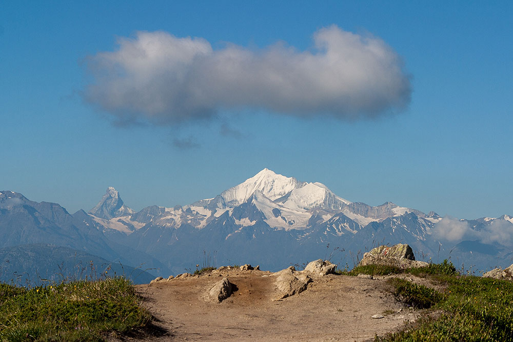
[[[403,109],[410,99],[401,58],[380,38],[337,26],[313,35],[312,50],[285,44],[212,49],[203,38],[137,32],[119,49],[87,58],[85,99],[121,122],[174,124],[220,110],[341,119]]]

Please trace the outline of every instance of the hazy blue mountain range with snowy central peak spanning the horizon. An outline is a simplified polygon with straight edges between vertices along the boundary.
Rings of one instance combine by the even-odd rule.
[[[495,237],[510,232],[508,215],[458,220],[390,202],[372,207],[268,169],[213,198],[139,212],[112,187],[88,213],[73,215],[58,204],[0,192],[0,248],[50,244],[126,266],[144,264],[163,276],[194,270],[207,257],[215,266],[269,270],[331,257],[350,267],[366,250],[396,243],[412,246],[418,258],[450,257],[456,265],[465,258],[467,266],[484,270],[511,264],[511,237]]]

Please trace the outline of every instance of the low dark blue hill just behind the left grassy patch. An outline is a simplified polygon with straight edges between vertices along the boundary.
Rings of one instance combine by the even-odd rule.
[[[105,273],[107,271],[107,273]],[[39,285],[43,279],[85,279],[125,275],[135,284],[154,278],[144,269],[112,263],[102,257],[49,244],[30,244],[0,249],[0,281],[17,285]]]

